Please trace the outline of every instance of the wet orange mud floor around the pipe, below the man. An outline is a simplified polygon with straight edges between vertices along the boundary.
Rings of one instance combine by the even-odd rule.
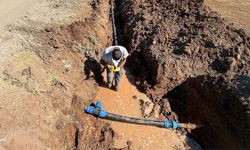
[[[104,73],[106,77],[106,73]],[[101,86],[95,102],[101,100],[103,108],[110,113],[142,118],[139,100],[149,101],[145,94],[139,92],[124,74],[118,92]],[[106,82],[106,80],[105,80]],[[137,98],[133,98],[136,96]],[[132,149],[186,149],[189,147],[186,136],[179,135],[172,129],[135,125],[105,120],[115,131],[114,148],[127,147],[131,142]]]

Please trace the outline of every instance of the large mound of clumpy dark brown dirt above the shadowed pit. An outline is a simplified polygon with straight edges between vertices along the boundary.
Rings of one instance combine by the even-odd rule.
[[[144,90],[169,91],[188,77],[208,73],[250,74],[249,37],[201,0],[126,0],[121,11],[128,66]]]

